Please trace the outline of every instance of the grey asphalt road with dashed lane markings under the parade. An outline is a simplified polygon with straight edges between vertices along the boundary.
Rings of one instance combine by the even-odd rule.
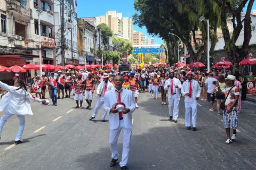
[[[255,103],[242,101],[237,139],[225,145],[222,116],[208,111],[209,103],[199,100],[197,131],[187,130],[183,100],[178,123],[174,123],[161,99],[154,100],[148,92],[139,95],[139,108],[133,113],[129,169],[256,169]],[[96,101],[97,97],[92,107]],[[18,117],[5,123],[0,140],[1,170],[119,169],[118,164],[110,167],[109,128],[108,121],[101,122],[102,108],[95,120],[89,121],[93,110],[73,108],[72,98],[58,99],[58,106],[43,107],[34,101],[31,106],[34,115],[26,116],[22,144],[13,145]],[[122,151],[122,134],[118,147]]]

